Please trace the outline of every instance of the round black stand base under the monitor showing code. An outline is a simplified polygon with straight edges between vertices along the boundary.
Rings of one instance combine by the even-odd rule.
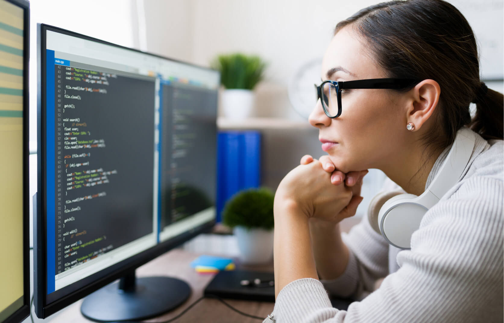
[[[191,287],[176,278],[136,278],[135,271],[84,299],[82,314],[91,320],[142,320],[161,315],[182,304],[191,295]]]

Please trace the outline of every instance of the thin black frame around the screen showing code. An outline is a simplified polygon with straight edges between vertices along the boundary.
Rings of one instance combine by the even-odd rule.
[[[34,243],[36,243],[37,253],[36,259],[34,262],[35,267],[35,277],[34,277],[34,306],[35,313],[40,318],[45,318],[58,310],[76,302],[77,300],[89,295],[90,293],[98,290],[99,288],[104,287],[105,285],[113,282],[114,280],[124,276],[126,273],[129,273],[136,268],[144,265],[145,263],[155,259],[157,256],[173,249],[174,247],[192,239],[193,237],[205,233],[210,232],[215,225],[215,217],[213,220],[208,221],[204,224],[199,225],[192,230],[184,232],[176,237],[173,237],[167,241],[159,242],[157,245],[144,250],[127,260],[119,262],[111,267],[102,270],[98,273],[95,273],[91,276],[88,276],[78,282],[82,282],[85,280],[89,280],[90,283],[86,284],[85,287],[81,287],[69,294],[59,297],[58,299],[48,302],[47,300],[47,250],[46,250],[46,197],[45,197],[45,186],[46,186],[46,163],[45,163],[45,121],[46,121],[46,109],[45,109],[45,82],[43,82],[42,76],[45,76],[46,71],[46,61],[45,61],[45,48],[46,48],[46,32],[54,31],[62,34],[66,34],[69,36],[79,37],[86,40],[95,41],[98,43],[111,45],[118,48],[123,48],[127,50],[132,50],[135,52],[139,52],[145,55],[151,55],[155,57],[159,57],[162,59],[166,59],[169,61],[174,61],[178,63],[185,64],[191,67],[197,67],[208,71],[214,71],[215,73],[219,73],[210,68],[198,66],[196,64],[164,57],[161,55],[141,51],[134,48],[129,48],[121,45],[117,45],[114,43],[110,43],[104,40],[100,40],[94,37],[89,37],[80,33],[72,32],[66,29],[46,25],[46,24],[38,24],[37,26],[37,59],[38,59],[38,75],[37,75],[37,83],[38,83],[38,100],[37,100],[37,124],[38,124],[38,133],[37,133],[37,161],[38,161],[38,192],[37,192],[37,214],[36,214],[36,227],[34,227]],[[220,74],[219,74],[219,83],[220,83]],[[216,111],[217,112],[217,111]],[[217,138],[215,139],[217,140]],[[216,152],[217,156],[217,152]],[[217,171],[217,170],[216,170]],[[34,221],[35,222],[35,221]],[[36,232],[36,240],[35,240],[35,232]],[[112,269],[111,269],[112,268]],[[104,271],[109,270],[108,273],[104,273]],[[73,283],[68,287],[73,286]],[[65,287],[67,288],[67,287]],[[57,291],[56,291],[57,292]]]

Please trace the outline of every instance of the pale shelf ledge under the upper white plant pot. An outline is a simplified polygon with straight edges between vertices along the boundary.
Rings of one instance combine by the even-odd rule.
[[[282,118],[247,118],[232,120],[223,117],[217,118],[219,129],[309,129],[313,128],[308,120],[289,120]]]

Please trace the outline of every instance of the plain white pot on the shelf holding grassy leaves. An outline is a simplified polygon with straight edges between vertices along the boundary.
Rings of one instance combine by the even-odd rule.
[[[224,90],[221,99],[224,116],[228,119],[245,119],[254,108],[254,92],[250,90]]]

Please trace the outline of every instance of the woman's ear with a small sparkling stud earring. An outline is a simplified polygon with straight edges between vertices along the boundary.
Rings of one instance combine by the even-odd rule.
[[[419,130],[434,112],[441,88],[434,80],[423,80],[411,89],[411,101],[406,110],[406,122],[413,122]]]

